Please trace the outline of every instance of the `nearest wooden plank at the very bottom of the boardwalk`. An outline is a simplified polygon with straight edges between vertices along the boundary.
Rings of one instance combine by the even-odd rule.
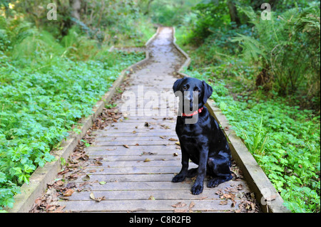
[[[175,204],[186,204],[184,207],[174,208]],[[66,208],[64,211],[78,212],[115,212],[115,211],[175,211],[188,212],[190,200],[118,200],[118,201],[60,201],[59,205]],[[232,201],[228,200],[226,205],[220,205],[220,200],[201,200],[194,202],[191,211],[229,211],[238,208],[238,204],[232,207]]]

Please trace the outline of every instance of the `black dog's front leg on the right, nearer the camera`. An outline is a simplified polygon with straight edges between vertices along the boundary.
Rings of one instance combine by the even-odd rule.
[[[198,163],[198,176],[192,186],[193,195],[198,195],[203,192],[203,181],[206,174],[206,163],[208,161],[208,147],[203,146],[200,150],[200,162]]]

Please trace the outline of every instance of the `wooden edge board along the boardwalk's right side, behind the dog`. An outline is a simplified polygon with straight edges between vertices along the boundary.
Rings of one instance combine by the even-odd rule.
[[[190,57],[175,43],[175,28],[173,36],[175,48],[186,58],[185,63],[176,73],[180,75],[180,77],[189,77],[189,75],[182,73],[182,71],[190,65]],[[231,126],[229,125],[228,120],[215,105],[215,102],[213,100],[208,100],[205,106],[215,120],[218,121],[218,124],[224,129],[223,132],[230,142],[233,159],[235,159],[235,162],[238,163],[238,166],[243,171],[245,180],[248,182],[250,189],[254,192],[255,198],[260,204],[262,211],[265,213],[290,213],[291,211],[283,205],[284,201],[280,194],[278,194],[277,190],[267,178],[263,169],[255,161],[252,154],[250,154],[242,139],[230,129]]]

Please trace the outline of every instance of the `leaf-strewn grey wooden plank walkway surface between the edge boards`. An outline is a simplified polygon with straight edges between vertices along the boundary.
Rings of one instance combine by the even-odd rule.
[[[237,167],[233,167],[232,181],[215,189],[204,186],[198,196],[190,193],[193,179],[171,182],[181,167],[172,87],[177,80],[175,70],[184,60],[172,36],[172,28],[160,29],[148,46],[150,62],[130,76],[124,100],[116,100],[117,107],[106,113],[112,123],[91,133],[94,141],[84,149],[86,153],[73,154],[74,163],[57,176],[68,181],[51,185],[60,190],[58,197],[63,201],[56,204],[63,211],[238,212],[246,211],[245,206],[248,211],[254,208]]]

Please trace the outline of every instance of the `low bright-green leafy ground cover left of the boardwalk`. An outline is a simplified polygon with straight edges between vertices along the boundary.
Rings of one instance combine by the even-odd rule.
[[[51,149],[78,119],[91,114],[118,73],[141,58],[118,53],[112,67],[96,60],[57,58],[35,73],[34,68],[8,63],[0,69],[0,206],[12,206],[17,186],[54,159]]]

